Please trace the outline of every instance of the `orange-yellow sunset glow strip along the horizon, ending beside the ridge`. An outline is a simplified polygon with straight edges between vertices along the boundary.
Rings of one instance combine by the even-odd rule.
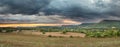
[[[0,24],[0,27],[36,27],[36,26],[62,26],[62,25],[74,25],[74,24],[81,24],[80,22],[65,19],[62,20],[61,24]]]

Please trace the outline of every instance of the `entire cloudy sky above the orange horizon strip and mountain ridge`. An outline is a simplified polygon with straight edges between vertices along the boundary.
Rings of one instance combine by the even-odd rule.
[[[120,20],[120,0],[0,0],[0,23],[78,24]]]

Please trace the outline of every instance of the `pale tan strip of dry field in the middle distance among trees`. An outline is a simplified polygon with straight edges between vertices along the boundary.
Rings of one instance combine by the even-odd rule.
[[[15,33],[15,32],[14,32]],[[83,33],[75,33],[75,32],[67,32],[66,34],[63,34],[62,32],[45,32],[43,34],[42,32],[33,32],[33,31],[22,31],[18,32],[19,34],[32,34],[32,35],[43,35],[43,36],[54,36],[54,37],[82,37],[84,38],[86,34]]]

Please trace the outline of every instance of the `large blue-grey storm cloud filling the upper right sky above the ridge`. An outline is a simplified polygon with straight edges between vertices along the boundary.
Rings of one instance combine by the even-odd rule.
[[[119,4],[120,0],[55,0],[45,12],[64,15],[77,21],[120,20]]]

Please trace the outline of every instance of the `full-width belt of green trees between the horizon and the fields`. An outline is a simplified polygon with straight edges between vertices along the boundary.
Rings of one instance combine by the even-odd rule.
[[[21,27],[21,28],[0,28],[0,32],[13,32],[21,30],[37,30],[40,32],[78,32],[84,33],[87,37],[118,37],[120,36],[120,28],[81,28],[81,27]]]

